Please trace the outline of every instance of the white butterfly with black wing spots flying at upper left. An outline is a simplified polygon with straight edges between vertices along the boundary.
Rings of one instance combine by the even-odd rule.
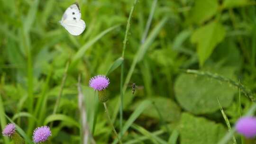
[[[86,25],[81,19],[81,11],[77,2],[66,9],[60,24],[65,27],[71,35],[78,36],[82,34]]]

